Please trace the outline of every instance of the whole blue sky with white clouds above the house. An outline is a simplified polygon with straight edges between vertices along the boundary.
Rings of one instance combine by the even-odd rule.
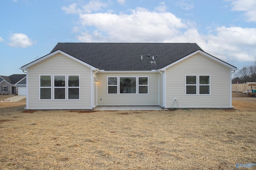
[[[256,61],[256,0],[2,0],[0,75],[58,42],[197,43],[238,68]]]

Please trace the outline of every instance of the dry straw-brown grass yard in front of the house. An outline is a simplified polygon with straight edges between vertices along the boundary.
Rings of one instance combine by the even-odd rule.
[[[0,169],[209,170],[256,163],[256,107],[30,113],[24,105],[2,105]]]

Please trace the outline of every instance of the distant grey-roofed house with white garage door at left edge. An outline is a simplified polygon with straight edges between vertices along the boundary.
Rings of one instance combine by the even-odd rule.
[[[0,94],[26,95],[26,74],[0,76]]]

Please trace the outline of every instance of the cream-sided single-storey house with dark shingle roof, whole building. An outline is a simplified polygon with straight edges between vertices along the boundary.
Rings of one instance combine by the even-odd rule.
[[[20,69],[27,109],[232,108],[237,70],[196,43],[58,43]]]

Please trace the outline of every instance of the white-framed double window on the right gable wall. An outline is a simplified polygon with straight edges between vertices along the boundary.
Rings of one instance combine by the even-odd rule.
[[[209,95],[210,75],[186,75],[186,95]]]

